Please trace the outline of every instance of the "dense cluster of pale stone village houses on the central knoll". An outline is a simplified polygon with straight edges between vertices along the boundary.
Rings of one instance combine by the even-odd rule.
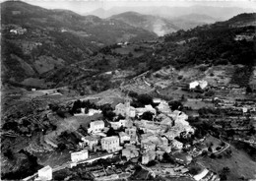
[[[175,137],[179,137],[180,133],[194,132],[186,121],[188,116],[181,111],[171,111],[164,100],[154,101],[159,103],[159,114],[152,105],[135,108],[129,102],[117,104],[114,112],[125,119],[108,122],[116,131],[123,128],[115,136],[106,136],[109,127],[105,126],[104,121],[92,121],[88,129],[89,135],[82,137],[82,142],[79,143],[82,151],[72,152],[71,160],[76,162],[89,159],[88,151],[100,150],[108,153],[121,152],[127,160],[142,155],[142,164],[148,164],[151,160],[161,159],[164,152],[181,150],[183,144],[175,140]],[[136,119],[145,112],[152,112],[158,121]]]

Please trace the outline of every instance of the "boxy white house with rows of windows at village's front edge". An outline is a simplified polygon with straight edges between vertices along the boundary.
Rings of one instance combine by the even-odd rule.
[[[120,151],[121,147],[119,146],[119,138],[116,136],[105,137],[101,139],[101,148],[103,151],[114,152]]]

